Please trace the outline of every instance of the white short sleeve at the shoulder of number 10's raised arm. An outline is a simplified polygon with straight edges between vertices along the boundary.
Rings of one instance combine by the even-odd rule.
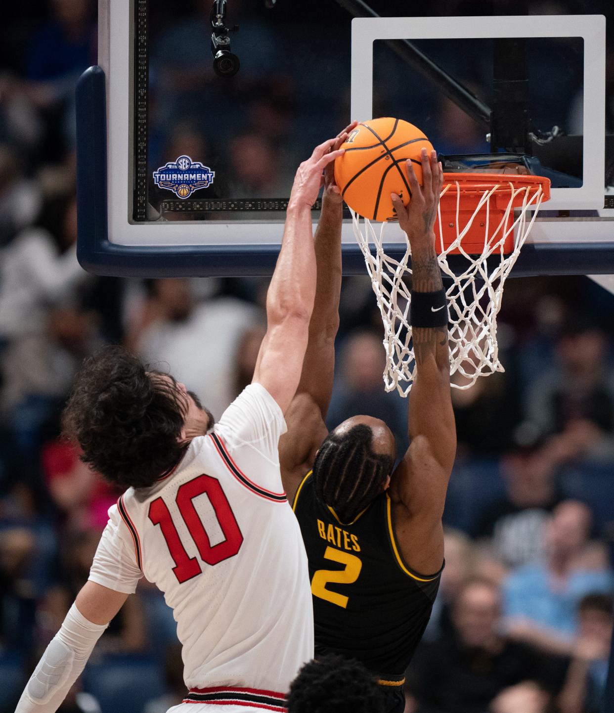
[[[215,425],[230,456],[250,481],[282,493],[280,436],[287,430],[282,409],[262,384],[250,384]]]

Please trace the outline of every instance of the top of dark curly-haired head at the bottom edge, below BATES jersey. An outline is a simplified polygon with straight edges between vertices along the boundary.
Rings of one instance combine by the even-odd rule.
[[[327,654],[309,661],[290,684],[288,713],[383,713],[384,697],[357,661]]]

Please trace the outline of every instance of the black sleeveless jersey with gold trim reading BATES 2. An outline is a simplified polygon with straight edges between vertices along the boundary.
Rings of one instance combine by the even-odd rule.
[[[399,685],[429,621],[441,571],[421,575],[404,563],[387,493],[344,525],[317,499],[308,473],[293,508],[309,559],[316,655],[354,658],[380,683]]]

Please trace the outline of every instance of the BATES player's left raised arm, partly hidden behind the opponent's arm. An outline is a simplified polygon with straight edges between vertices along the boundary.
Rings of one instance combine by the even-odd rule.
[[[339,133],[336,150],[357,122]],[[280,438],[282,481],[292,501],[301,479],[312,466],[327,435],[324,424],[334,377],[334,339],[339,329],[341,294],[341,227],[343,199],[334,183],[333,164],[324,171],[322,213],[315,232],[317,281],[309,340],[297,394],[286,414],[287,433]]]

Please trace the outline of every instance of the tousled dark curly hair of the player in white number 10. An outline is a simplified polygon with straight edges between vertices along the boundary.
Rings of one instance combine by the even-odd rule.
[[[185,451],[185,409],[172,377],[148,371],[122,347],[106,347],[83,362],[62,425],[83,449],[81,460],[106,481],[148,488]]]

